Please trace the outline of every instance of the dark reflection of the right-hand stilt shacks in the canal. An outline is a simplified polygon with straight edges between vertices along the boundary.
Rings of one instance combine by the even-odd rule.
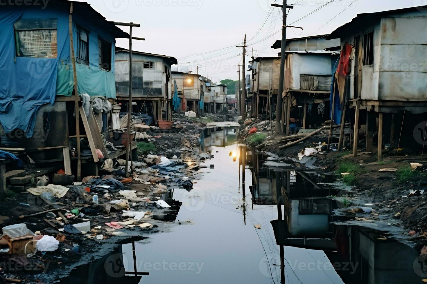
[[[253,171],[252,204],[277,206],[277,219],[270,223],[280,246],[281,283],[286,282],[285,261],[294,257],[287,255],[289,247],[323,251],[329,261],[327,266],[344,283],[420,283],[421,276],[425,277],[425,261],[418,259],[414,248],[384,237],[386,232],[333,223],[346,218],[334,215],[334,209],[341,204],[327,198],[340,193],[328,185],[333,182],[333,175],[266,167],[266,158],[259,153],[246,154]],[[303,264],[296,269],[310,270],[311,266],[325,270],[325,263],[314,258]]]

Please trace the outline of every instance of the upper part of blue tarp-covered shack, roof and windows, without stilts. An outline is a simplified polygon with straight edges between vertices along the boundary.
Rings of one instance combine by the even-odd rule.
[[[0,121],[6,133],[31,137],[36,113],[73,94],[69,13],[72,1],[3,3],[0,9]],[[79,95],[115,98],[115,38],[129,37],[88,3],[73,2],[73,44]],[[65,108],[65,107],[64,107]]]

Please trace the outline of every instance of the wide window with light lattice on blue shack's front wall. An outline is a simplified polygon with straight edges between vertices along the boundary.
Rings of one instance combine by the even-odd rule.
[[[22,57],[56,58],[57,19],[21,19],[14,24],[16,55]]]

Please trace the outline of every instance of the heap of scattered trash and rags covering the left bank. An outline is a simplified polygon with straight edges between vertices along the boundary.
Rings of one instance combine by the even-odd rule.
[[[61,264],[67,256],[76,257],[94,241],[140,235],[141,230],[157,227],[154,214],[181,206],[167,199],[168,187],[191,189],[193,183],[181,174],[180,169],[187,165],[178,159],[140,158],[132,169],[122,159],[105,159],[102,175],[86,176],[82,182],[66,186],[52,184],[45,175],[18,194],[17,201],[8,201],[17,202],[14,210],[19,217],[0,218],[0,261],[13,258],[40,270],[47,263]],[[126,168],[132,172],[130,178],[126,178]],[[6,268],[1,275],[19,282],[14,272]]]

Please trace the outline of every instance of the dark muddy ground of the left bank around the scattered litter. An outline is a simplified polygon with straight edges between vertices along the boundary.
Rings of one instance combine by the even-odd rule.
[[[181,115],[174,115],[175,122],[180,123],[183,128],[180,132],[165,133],[161,130],[154,130],[153,133],[148,133],[151,137],[149,141],[142,143],[153,143],[156,150],[146,155],[165,156],[172,159],[177,156],[175,161],[181,162],[177,166],[178,171],[170,174],[170,178],[159,183],[141,184],[137,181],[132,181],[130,184],[125,184],[125,190],[135,190],[138,192],[138,197],[156,200],[167,194],[165,191],[158,190],[158,185],[164,185],[168,189],[171,186],[177,186],[173,181],[175,176],[186,176],[191,181],[194,181],[198,176],[199,164],[205,159],[211,158],[210,154],[199,154],[199,133],[200,130],[206,127],[207,122],[235,120],[234,117],[228,115],[207,115],[206,118],[186,118]],[[139,153],[139,160],[144,161],[146,155]],[[102,173],[100,173],[102,175]],[[105,198],[99,195],[99,203],[104,203],[109,200],[117,200],[123,196],[113,194],[110,198]],[[58,204],[62,205],[59,200]],[[66,209],[78,207],[70,202]],[[179,203],[179,202],[178,202]],[[145,201],[129,201],[129,204],[135,211],[149,211],[140,222],[148,222],[153,225],[149,229],[141,229],[139,227],[125,227],[114,231],[105,223],[111,221],[122,221],[124,218],[118,211],[111,209],[111,212],[100,212],[96,214],[87,214],[83,218],[71,220],[71,224],[76,224],[83,221],[91,222],[92,235],[104,235],[104,239],[88,238],[85,235],[75,235],[67,232],[59,232],[58,229],[51,227],[44,219],[52,221],[58,228],[61,226],[56,223],[55,218],[47,218],[46,213],[33,217],[19,218],[20,215],[34,214],[46,209],[50,209],[48,204],[40,202],[29,193],[16,194],[7,198],[2,202],[2,214],[0,216],[0,226],[5,227],[11,224],[26,223],[27,228],[32,232],[37,232],[41,235],[58,236],[65,238],[60,242],[58,250],[54,252],[46,252],[41,254],[38,252],[32,258],[14,258],[7,259],[7,254],[0,254],[0,276],[3,278],[12,278],[22,281],[23,283],[54,283],[61,278],[67,276],[71,270],[82,265],[90,263],[98,258],[101,258],[108,252],[111,252],[121,244],[126,244],[132,241],[140,241],[144,238],[153,238],[155,234],[168,232],[173,226],[185,226],[187,221],[176,220],[176,222],[165,222],[155,216],[174,215],[178,213],[181,204],[170,204],[170,209],[159,209],[154,204]],[[64,211],[63,211],[64,212]],[[64,212],[65,213],[65,212]],[[58,215],[56,215],[58,217]],[[157,220],[156,220],[157,219]],[[58,221],[59,222],[59,221]],[[95,227],[101,226],[100,229]],[[120,235],[114,235],[114,232],[124,232]],[[3,281],[0,278],[0,283]]]

